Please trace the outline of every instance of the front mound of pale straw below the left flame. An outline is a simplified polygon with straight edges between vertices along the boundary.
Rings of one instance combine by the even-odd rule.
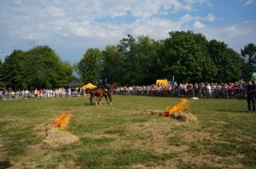
[[[71,134],[70,132],[61,131],[59,128],[52,127],[46,133],[44,138],[44,146],[50,148],[56,148],[61,145],[73,144],[79,141],[79,138]]]

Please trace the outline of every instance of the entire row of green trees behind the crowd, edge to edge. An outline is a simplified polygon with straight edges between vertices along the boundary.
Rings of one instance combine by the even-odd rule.
[[[119,85],[148,85],[156,79],[177,82],[236,82],[248,80],[255,70],[256,45],[247,44],[236,53],[224,42],[193,31],[171,31],[169,37],[127,35],[117,45],[105,49],[88,48],[75,65],[62,61],[48,46],[28,51],[14,50],[0,60],[0,87],[64,87],[73,71],[82,83],[101,78]]]

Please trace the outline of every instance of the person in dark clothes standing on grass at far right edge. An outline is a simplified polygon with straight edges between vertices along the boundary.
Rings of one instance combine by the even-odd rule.
[[[247,84],[247,108],[248,111],[252,110],[252,106],[253,106],[253,112],[255,112],[255,92],[256,90],[256,86],[255,86],[255,82],[248,82]]]

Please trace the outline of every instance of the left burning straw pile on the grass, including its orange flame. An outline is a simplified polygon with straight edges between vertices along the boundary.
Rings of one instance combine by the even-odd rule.
[[[65,114],[62,112],[56,121],[50,120],[48,123],[41,124],[35,128],[39,135],[44,138],[44,147],[56,148],[79,141],[78,137],[67,132],[71,116],[71,113]]]

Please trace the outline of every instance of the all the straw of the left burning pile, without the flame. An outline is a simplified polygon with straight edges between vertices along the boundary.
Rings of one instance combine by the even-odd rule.
[[[44,148],[56,148],[79,141],[79,138],[70,132],[54,127],[54,120],[49,120],[49,122],[35,127],[35,131],[43,137]]]

